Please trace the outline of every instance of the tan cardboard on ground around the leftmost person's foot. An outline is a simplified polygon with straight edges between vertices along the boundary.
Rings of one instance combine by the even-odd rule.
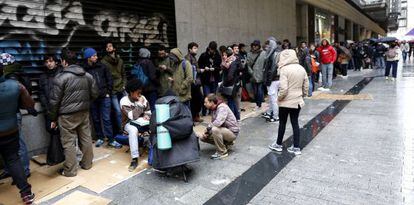
[[[20,193],[16,186],[10,186],[11,179],[8,183],[0,185],[0,199],[4,205],[21,204]],[[40,172],[33,172],[29,178],[29,183],[32,184],[32,191],[36,193],[36,198],[40,199],[61,187],[73,182],[69,178],[61,176],[49,176]]]

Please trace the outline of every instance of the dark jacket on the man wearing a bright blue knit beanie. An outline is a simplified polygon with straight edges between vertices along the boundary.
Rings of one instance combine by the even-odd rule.
[[[99,89],[99,97],[112,94],[113,81],[111,71],[102,63],[97,62],[90,66],[88,63],[83,65],[86,72],[92,75]]]

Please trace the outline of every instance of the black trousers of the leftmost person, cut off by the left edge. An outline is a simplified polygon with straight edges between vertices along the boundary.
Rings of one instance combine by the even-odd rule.
[[[9,170],[20,194],[25,196],[31,194],[31,185],[27,182],[27,176],[24,173],[23,164],[20,161],[19,151],[19,133],[0,137],[0,154],[5,161],[5,165]]]

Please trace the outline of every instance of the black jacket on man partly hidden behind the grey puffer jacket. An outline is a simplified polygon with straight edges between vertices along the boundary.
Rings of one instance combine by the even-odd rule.
[[[49,99],[53,88],[53,80],[57,74],[62,72],[62,68],[57,66],[53,70],[47,69],[39,79],[39,100],[46,112],[50,110]]]

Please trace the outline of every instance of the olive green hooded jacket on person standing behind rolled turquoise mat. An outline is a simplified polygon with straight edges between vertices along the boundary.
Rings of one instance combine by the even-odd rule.
[[[189,61],[184,59],[180,49],[174,48],[171,54],[175,55],[179,63],[174,66],[172,90],[180,98],[181,102],[191,100],[191,84],[193,82],[193,71]],[[185,71],[183,69],[183,61],[185,61]]]

